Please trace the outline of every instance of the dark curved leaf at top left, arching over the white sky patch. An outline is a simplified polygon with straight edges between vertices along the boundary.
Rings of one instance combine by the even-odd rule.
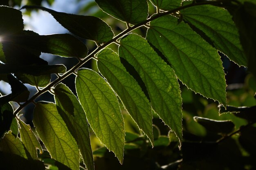
[[[49,12],[63,27],[76,36],[102,43],[114,36],[111,28],[103,20],[94,16],[81,16],[57,12],[45,7],[24,6],[22,9],[41,9]]]

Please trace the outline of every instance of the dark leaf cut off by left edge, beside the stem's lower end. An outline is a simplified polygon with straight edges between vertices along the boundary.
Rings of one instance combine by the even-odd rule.
[[[11,104],[0,105],[0,138],[7,132],[13,120],[13,108]]]

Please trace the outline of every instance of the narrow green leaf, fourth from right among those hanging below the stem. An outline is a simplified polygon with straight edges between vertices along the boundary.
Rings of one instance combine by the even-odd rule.
[[[121,98],[139,128],[148,136],[151,143],[154,143],[150,103],[138,83],[126,71],[114,51],[104,49],[97,57],[99,71]]]

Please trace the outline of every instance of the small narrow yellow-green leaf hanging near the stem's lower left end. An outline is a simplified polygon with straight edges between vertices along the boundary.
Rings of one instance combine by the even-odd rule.
[[[31,155],[32,159],[38,160],[37,148],[40,150],[40,153],[43,153],[43,149],[36,139],[34,132],[31,130],[29,125],[26,125],[24,122],[19,121],[20,125],[20,139],[24,144],[25,148]]]

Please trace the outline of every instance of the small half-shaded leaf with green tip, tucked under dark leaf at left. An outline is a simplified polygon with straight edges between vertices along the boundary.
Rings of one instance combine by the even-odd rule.
[[[45,74],[41,76],[32,76],[29,74],[15,74],[15,76],[22,81],[22,83],[27,83],[36,87],[45,87],[51,81],[51,74]]]

